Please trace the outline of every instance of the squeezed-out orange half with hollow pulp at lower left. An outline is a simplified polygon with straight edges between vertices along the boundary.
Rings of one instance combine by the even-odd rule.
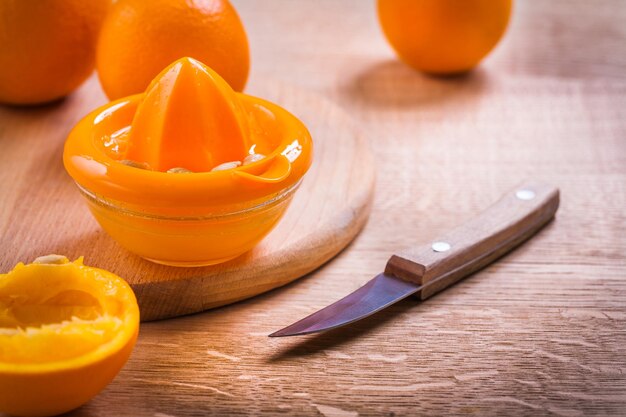
[[[137,339],[139,308],[124,280],[82,258],[45,258],[0,275],[0,412],[79,407],[113,380]]]

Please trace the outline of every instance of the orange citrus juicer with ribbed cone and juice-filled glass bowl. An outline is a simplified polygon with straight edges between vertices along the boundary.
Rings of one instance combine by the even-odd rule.
[[[153,262],[211,265],[276,225],[312,158],[306,127],[180,59],[145,93],[113,101],[70,132],[63,160],[120,245]]]

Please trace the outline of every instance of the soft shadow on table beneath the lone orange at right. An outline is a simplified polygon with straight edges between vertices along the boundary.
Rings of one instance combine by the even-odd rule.
[[[349,79],[339,91],[342,100],[377,111],[428,107],[449,100],[478,97],[489,83],[488,72],[435,76],[420,73],[398,60],[378,62]]]

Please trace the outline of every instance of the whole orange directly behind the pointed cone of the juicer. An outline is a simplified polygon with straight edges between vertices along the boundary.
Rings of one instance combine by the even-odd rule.
[[[228,0],[118,0],[102,25],[96,66],[104,92],[115,100],[145,91],[185,56],[243,90],[248,38]]]

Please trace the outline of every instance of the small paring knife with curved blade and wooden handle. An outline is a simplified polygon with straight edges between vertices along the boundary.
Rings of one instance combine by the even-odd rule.
[[[385,272],[352,294],[270,337],[304,335],[344,326],[413,294],[425,300],[530,238],[552,220],[558,207],[558,188],[524,183],[440,239],[393,255]]]

